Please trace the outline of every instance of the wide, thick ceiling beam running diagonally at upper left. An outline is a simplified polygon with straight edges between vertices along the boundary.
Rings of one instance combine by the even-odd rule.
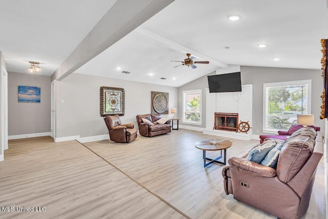
[[[172,2],[174,0],[117,0],[51,75],[51,81],[64,79]]]

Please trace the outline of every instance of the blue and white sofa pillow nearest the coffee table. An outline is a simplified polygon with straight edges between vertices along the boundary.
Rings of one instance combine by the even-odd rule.
[[[264,157],[276,146],[277,142],[273,140],[268,140],[262,143],[262,145],[253,148],[248,156],[246,157],[247,160],[253,161],[255,163],[261,163]]]

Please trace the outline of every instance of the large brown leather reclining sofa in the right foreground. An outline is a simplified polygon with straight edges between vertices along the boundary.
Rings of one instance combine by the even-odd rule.
[[[295,134],[296,133],[296,134]],[[231,157],[223,167],[226,194],[279,218],[300,218],[308,210],[323,135],[306,127],[281,147],[276,168]]]

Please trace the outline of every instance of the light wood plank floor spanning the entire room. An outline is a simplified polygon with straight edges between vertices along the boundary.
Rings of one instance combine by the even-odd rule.
[[[0,162],[1,207],[45,206],[46,211],[0,211],[0,218],[275,218],[224,193],[222,165],[204,168],[202,151],[194,147],[209,137],[216,136],[180,129],[138,135],[129,144],[11,140]],[[224,139],[233,142],[228,158],[258,144]],[[322,160],[303,218],[324,218],[323,177]]]

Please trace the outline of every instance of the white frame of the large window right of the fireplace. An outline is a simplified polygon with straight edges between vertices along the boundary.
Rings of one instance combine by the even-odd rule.
[[[263,84],[263,132],[266,133],[277,133],[277,129],[271,129],[267,127],[267,112],[268,112],[268,87],[277,87],[277,86],[293,86],[293,85],[303,85],[308,84],[308,106],[306,114],[311,114],[311,91],[312,91],[312,80],[300,80],[300,81],[289,81],[289,82],[275,82],[275,83],[264,83]]]

